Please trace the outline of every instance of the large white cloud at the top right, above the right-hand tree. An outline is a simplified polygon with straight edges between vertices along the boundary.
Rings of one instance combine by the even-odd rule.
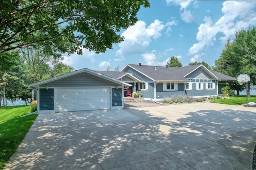
[[[204,23],[199,26],[196,34],[198,43],[190,47],[188,55],[198,54],[209,45],[213,45],[218,33],[224,34],[220,40],[226,43],[228,37],[242,27],[248,28],[256,24],[256,1],[225,1],[222,5],[224,15],[215,24],[210,17],[204,17]]]

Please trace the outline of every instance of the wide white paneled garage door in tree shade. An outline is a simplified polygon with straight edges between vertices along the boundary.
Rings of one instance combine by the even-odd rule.
[[[57,88],[55,111],[110,109],[110,88]]]

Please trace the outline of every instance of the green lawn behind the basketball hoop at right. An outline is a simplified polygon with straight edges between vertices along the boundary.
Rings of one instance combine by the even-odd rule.
[[[216,100],[211,100],[210,102],[226,104],[226,105],[242,105],[242,104],[246,104],[246,95],[238,95],[238,96],[230,97],[230,99],[216,99]],[[256,95],[250,95],[250,97],[248,97],[248,103],[249,102],[256,103]]]

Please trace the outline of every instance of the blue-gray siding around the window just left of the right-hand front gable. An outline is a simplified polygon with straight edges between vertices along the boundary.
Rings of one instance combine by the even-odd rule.
[[[164,91],[163,83],[156,84],[156,99],[170,98],[172,96],[184,96],[184,83],[178,83],[178,91]]]

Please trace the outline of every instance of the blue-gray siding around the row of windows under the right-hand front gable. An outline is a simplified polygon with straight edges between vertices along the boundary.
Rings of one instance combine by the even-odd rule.
[[[210,96],[217,95],[217,83],[215,83],[215,89],[205,89],[206,83],[203,83],[204,89],[197,90],[196,83],[192,83],[192,90],[185,90],[185,95],[188,96]]]

